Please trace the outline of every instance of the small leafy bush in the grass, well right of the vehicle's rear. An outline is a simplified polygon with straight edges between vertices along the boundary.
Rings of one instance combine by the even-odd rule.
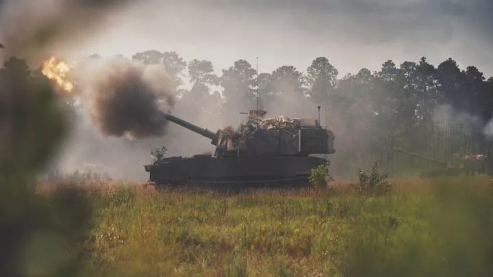
[[[379,173],[379,165],[373,163],[370,175],[362,169],[358,170],[358,183],[353,185],[353,189],[359,194],[382,195],[392,190],[392,184],[387,181],[388,174]]]

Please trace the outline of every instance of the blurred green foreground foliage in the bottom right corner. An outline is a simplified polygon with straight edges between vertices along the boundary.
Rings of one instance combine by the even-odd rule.
[[[493,204],[470,183],[441,180],[431,197],[374,200],[344,234],[345,276],[490,276]]]

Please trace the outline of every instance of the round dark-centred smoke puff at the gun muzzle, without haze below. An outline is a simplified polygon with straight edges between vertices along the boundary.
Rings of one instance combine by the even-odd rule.
[[[168,121],[159,116],[160,109],[172,109],[175,94],[162,66],[115,58],[90,69],[82,83],[84,107],[103,135],[164,135]]]

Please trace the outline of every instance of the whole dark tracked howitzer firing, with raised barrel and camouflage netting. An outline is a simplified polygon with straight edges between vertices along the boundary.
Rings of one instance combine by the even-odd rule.
[[[214,155],[168,157],[144,166],[149,181],[165,185],[198,184],[225,187],[307,185],[310,170],[329,166],[323,155],[335,153],[332,131],[312,118],[264,118],[266,111],[249,111],[237,129],[216,133],[170,114],[161,116],[203,135],[216,146]]]

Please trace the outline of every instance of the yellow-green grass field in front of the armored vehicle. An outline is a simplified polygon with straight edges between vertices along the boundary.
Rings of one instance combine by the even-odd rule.
[[[215,194],[82,185],[86,276],[492,276],[485,178]],[[41,185],[41,192],[49,192]]]

